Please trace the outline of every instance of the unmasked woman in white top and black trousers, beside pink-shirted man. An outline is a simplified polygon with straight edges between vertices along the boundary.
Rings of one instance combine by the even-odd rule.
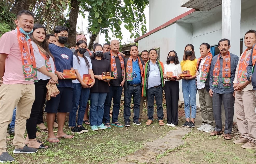
[[[27,136],[29,147],[47,148],[41,141],[36,139],[37,118],[41,110],[43,110],[47,83],[58,83],[58,77],[54,74],[55,66],[53,56],[48,48],[48,42],[45,40],[46,28],[40,24],[34,24],[33,33],[29,34],[32,41],[34,57],[37,65],[38,81],[35,82],[35,100],[31,109],[30,118],[27,119]],[[40,66],[40,68],[38,68]],[[28,143],[27,143],[28,142]]]

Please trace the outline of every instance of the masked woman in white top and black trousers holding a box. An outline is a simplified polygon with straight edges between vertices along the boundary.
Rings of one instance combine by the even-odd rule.
[[[172,76],[168,77],[167,72],[172,72]],[[164,93],[166,101],[167,126],[175,127],[178,125],[178,103],[179,103],[179,80],[178,74],[181,74],[181,65],[177,52],[170,51],[167,56],[166,64],[164,64]]]

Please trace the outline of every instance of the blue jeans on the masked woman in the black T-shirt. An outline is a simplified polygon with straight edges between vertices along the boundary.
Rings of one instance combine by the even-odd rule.
[[[104,113],[104,103],[107,97],[107,93],[91,93],[91,108],[90,108],[90,124],[91,126],[102,124],[102,118]],[[109,112],[108,112],[109,114]]]

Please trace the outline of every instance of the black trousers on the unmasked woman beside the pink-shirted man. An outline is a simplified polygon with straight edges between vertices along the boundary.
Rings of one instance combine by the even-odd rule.
[[[32,105],[30,118],[27,119],[27,134],[29,135],[29,139],[36,138],[36,126],[37,126],[37,118],[41,111],[43,111],[45,97],[46,97],[46,85],[49,82],[48,80],[39,80],[35,82],[35,97],[34,103]]]

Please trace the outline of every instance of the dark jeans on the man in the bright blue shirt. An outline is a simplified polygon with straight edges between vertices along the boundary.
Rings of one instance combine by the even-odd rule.
[[[124,108],[123,108],[123,118],[124,121],[131,121],[129,117],[131,116],[131,100],[133,95],[133,122],[137,121],[140,117],[140,99],[141,99],[141,85],[133,87],[127,85],[127,90],[124,90]]]

